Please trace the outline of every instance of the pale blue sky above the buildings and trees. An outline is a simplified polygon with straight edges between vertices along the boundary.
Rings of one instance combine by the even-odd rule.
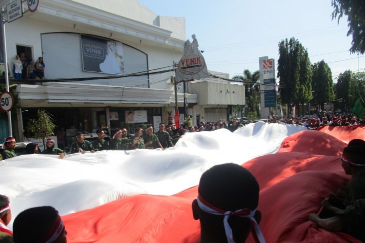
[[[331,0],[138,0],[157,15],[185,17],[186,39],[196,35],[208,70],[241,75],[259,69],[258,58],[275,59],[278,43],[295,37],[311,63],[324,60],[333,81],[341,72],[365,69],[363,55],[350,54],[347,17],[332,20]]]

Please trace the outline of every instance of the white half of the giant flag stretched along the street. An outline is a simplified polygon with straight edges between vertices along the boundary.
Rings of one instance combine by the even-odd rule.
[[[173,195],[198,185],[210,167],[276,153],[286,136],[303,130],[257,122],[234,133],[188,133],[165,150],[103,150],[63,160],[58,155],[21,155],[0,161],[0,192],[10,198],[13,219],[44,205],[66,215],[136,194]]]

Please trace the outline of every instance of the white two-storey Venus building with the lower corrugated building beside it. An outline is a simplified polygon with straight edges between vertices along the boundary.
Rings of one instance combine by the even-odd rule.
[[[137,0],[41,0],[35,12],[27,11],[26,2],[23,8],[21,18],[5,23],[8,67],[16,54],[34,62],[42,57],[46,80],[18,82],[13,134],[19,140],[38,108],[50,112],[59,129],[88,132],[106,124],[134,133],[134,127],[156,127],[174,116],[170,77],[173,61],[183,54],[183,17],[159,16]],[[229,105],[244,104],[242,86],[205,80],[187,84],[186,115],[194,124],[226,119]],[[179,86],[180,113],[183,97]],[[128,113],[134,116],[130,123]]]

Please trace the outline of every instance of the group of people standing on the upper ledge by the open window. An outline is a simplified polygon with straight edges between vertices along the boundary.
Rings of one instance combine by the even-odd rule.
[[[44,79],[45,64],[43,57],[39,56],[34,63],[33,59],[28,59],[24,53],[16,55],[12,61],[12,72],[15,79]]]

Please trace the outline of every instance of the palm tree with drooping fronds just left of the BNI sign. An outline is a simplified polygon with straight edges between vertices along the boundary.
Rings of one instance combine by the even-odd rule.
[[[258,103],[257,98],[259,96],[259,84],[257,84],[256,81],[259,77],[260,72],[258,70],[251,73],[248,69],[243,71],[243,75],[235,75],[232,77],[232,79],[245,81],[246,106],[249,111],[254,112],[257,116],[259,115],[256,109],[256,104]]]

